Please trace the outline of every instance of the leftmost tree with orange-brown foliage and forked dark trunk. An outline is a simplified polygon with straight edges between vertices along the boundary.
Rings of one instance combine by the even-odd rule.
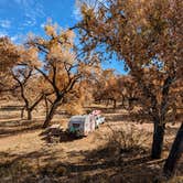
[[[11,92],[21,96],[24,101],[21,117],[24,109],[28,111],[28,119],[32,119],[32,111],[43,99],[43,96],[51,95],[43,86],[39,86],[39,75],[34,67],[40,67],[37,51],[34,47],[15,45],[8,37],[0,40],[0,90]],[[6,82],[4,82],[6,80]]]

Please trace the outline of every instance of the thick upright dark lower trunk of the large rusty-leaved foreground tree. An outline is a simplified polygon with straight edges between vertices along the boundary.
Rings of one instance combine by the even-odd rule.
[[[151,150],[152,159],[161,159],[164,129],[165,129],[165,125],[160,125],[158,121],[154,121],[153,142],[152,142],[152,150]]]

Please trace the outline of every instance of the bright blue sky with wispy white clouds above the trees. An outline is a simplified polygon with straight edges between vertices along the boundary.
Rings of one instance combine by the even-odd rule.
[[[15,43],[30,32],[43,35],[47,19],[62,28],[74,25],[78,21],[75,0],[0,0],[0,36],[9,35]],[[103,65],[123,73],[122,63]]]

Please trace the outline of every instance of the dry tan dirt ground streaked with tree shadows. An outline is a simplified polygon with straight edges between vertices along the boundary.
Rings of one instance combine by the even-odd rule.
[[[154,161],[150,159],[152,123],[132,122],[123,109],[95,106],[106,117],[106,122],[95,132],[80,139],[63,133],[60,141],[50,142],[41,128],[43,115],[35,111],[32,121],[21,120],[19,107],[13,106],[0,106],[0,183],[160,182],[164,160],[180,126],[168,125],[162,159]],[[52,123],[61,123],[65,130],[68,119],[57,112]],[[114,148],[109,142],[114,131],[131,128],[143,138],[139,139],[137,149],[119,153],[117,144]],[[183,182],[182,174],[183,162],[177,166],[177,182]]]

